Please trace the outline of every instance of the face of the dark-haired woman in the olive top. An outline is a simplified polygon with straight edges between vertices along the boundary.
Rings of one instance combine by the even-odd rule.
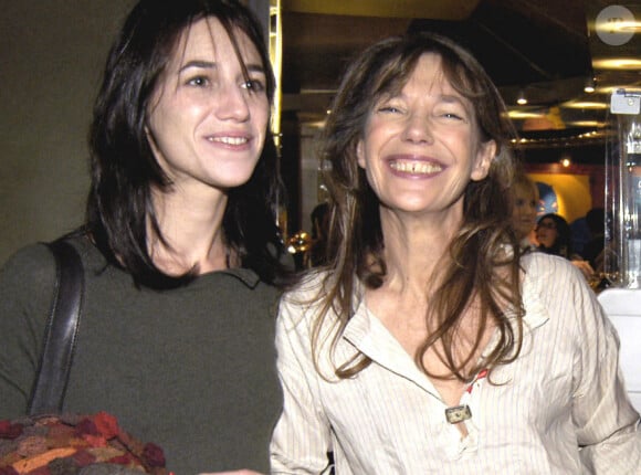
[[[154,155],[181,193],[224,197],[249,180],[265,141],[265,70],[249,38],[238,30],[235,35],[242,62],[220,21],[192,24],[151,101],[147,134]]]

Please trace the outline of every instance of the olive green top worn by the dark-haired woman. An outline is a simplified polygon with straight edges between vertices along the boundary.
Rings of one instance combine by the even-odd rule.
[[[172,291],[136,288],[88,240],[72,242],[85,298],[63,412],[114,414],[125,431],[160,445],[177,475],[269,472],[281,409],[277,291],[244,268]],[[0,419],[27,410],[54,276],[42,244],[0,270]]]

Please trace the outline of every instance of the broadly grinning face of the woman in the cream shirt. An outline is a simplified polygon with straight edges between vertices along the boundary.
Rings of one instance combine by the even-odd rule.
[[[486,177],[496,151],[496,142],[479,144],[477,135],[472,104],[443,75],[440,56],[421,56],[403,88],[375,105],[356,148],[385,204],[381,219],[439,213],[440,225],[458,225],[467,181]]]

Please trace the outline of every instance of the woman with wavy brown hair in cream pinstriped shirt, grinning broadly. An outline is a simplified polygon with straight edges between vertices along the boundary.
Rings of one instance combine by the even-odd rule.
[[[326,267],[281,302],[272,473],[634,474],[616,332],[566,261],[523,254],[513,129],[452,41],[383,40],[326,124]]]

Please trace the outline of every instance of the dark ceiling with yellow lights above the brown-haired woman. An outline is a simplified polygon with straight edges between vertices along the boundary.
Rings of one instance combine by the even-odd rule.
[[[498,86],[526,147],[603,144],[612,87],[641,88],[641,28],[624,44],[596,33],[601,0],[281,0],[282,110],[322,124],[350,57],[410,30],[453,36]],[[641,20],[641,4],[619,3]],[[596,20],[599,19],[599,22]],[[611,19],[609,19],[611,20]],[[596,80],[597,91],[584,92]],[[527,105],[517,105],[524,94]],[[600,155],[599,159],[602,159]]]

